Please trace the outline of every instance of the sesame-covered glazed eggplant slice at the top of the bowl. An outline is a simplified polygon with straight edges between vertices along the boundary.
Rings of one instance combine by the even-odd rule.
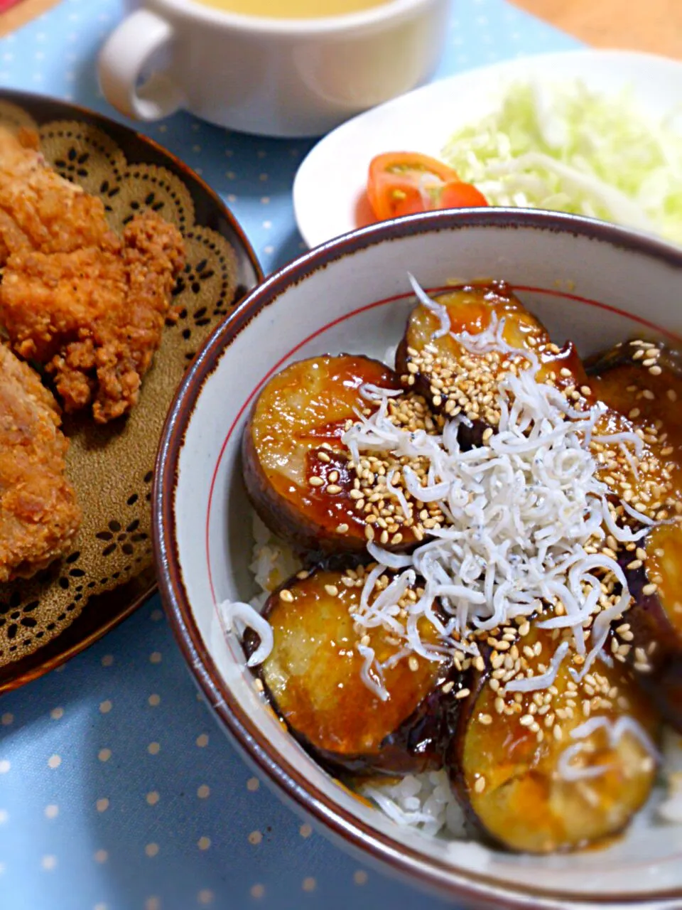
[[[547,329],[505,282],[457,288],[438,296],[436,304],[443,308],[440,313],[424,303],[412,310],[396,352],[396,370],[406,387],[416,389],[434,410],[466,417],[470,427],[460,430],[464,448],[480,444],[483,431],[496,427],[497,383],[506,372],[525,369],[529,360],[501,350],[472,352],[454,336],[481,335],[504,319],[506,343],[517,351],[536,353],[538,381],[552,381],[562,389],[585,384],[587,377],[573,344],[557,348]]]

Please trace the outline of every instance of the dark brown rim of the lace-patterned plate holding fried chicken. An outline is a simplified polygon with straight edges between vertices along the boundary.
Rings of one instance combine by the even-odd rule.
[[[74,104],[71,101],[64,101],[61,98],[52,98],[50,96],[38,95],[34,92],[25,92],[21,89],[11,88],[0,89],[0,99],[24,108],[29,114],[34,116],[39,127],[51,119],[75,119],[80,122],[89,123],[92,126],[97,126],[102,129],[103,132],[112,136],[115,139],[115,142],[123,148],[126,159],[131,165],[141,163],[145,157],[145,151],[149,150],[150,161],[153,161],[155,164],[159,164],[162,167],[167,167],[175,173],[177,177],[180,177],[188,184],[194,184],[205,195],[206,203],[210,203],[211,210],[216,212],[218,216],[218,221],[222,219],[228,228],[226,238],[231,243],[240,247],[240,249],[237,250],[237,255],[242,261],[246,260],[248,266],[253,271],[256,280],[255,287],[263,281],[263,269],[256,257],[256,251],[251,246],[250,240],[246,237],[244,228],[241,227],[232,211],[226,206],[216,191],[212,189],[212,187],[209,187],[206,180],[200,177],[191,167],[186,165],[184,161],[174,155],[173,152],[159,145],[159,143],[155,142],[155,140],[151,139],[149,136],[138,133],[130,126],[119,123],[117,120],[113,120],[112,118],[105,116],[105,114],[100,114],[88,107]],[[126,139],[128,140],[128,145],[131,141],[134,141],[135,145],[138,147],[135,149],[135,154],[130,157],[128,156],[129,148],[126,147]],[[196,204],[194,195],[193,199]],[[206,208],[206,206],[204,208]],[[201,218],[197,220],[197,224],[218,229],[217,223],[216,225],[203,225]],[[219,233],[222,232],[219,231]],[[240,281],[236,293],[237,295],[241,294],[242,298],[244,298],[252,289],[253,287],[246,288]],[[239,307],[239,302],[236,303],[236,308]],[[136,586],[130,584],[131,593],[129,598],[125,598],[121,591],[124,587],[123,585],[120,585],[113,591],[106,591],[105,593],[98,595],[96,602],[93,603],[93,610],[98,614],[104,613],[105,618],[103,622],[97,624],[88,618],[82,619],[85,612],[88,611],[88,608],[86,607],[84,612],[81,613],[75,622],[72,623],[71,626],[68,626],[64,632],[61,632],[61,634],[52,642],[48,642],[43,648],[38,648],[37,651],[26,657],[19,658],[15,662],[7,664],[6,667],[0,671],[0,695],[7,692],[13,692],[15,689],[25,685],[25,683],[31,682],[39,676],[43,676],[45,673],[55,670],[56,667],[70,660],[72,657],[75,657],[76,654],[85,651],[85,648],[94,644],[98,639],[102,638],[106,632],[110,632],[120,622],[123,622],[128,616],[132,615],[132,613],[147,602],[158,589],[158,582],[155,580],[153,572],[150,571],[148,575],[151,576],[148,581],[145,580],[142,584]],[[118,604],[121,602],[123,605],[118,607]],[[110,610],[105,610],[110,603],[115,604],[115,606]],[[72,633],[70,633],[69,630],[71,630]],[[72,641],[74,635],[76,635],[75,641]]]

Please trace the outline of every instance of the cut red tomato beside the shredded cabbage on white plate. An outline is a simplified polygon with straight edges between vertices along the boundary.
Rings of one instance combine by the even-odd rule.
[[[486,197],[462,183],[452,167],[419,152],[386,152],[369,165],[367,199],[383,221],[436,208],[486,206]]]

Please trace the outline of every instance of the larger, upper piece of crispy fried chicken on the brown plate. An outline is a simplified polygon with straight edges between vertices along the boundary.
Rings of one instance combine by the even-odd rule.
[[[184,265],[176,227],[147,212],[116,237],[99,199],[0,134],[3,248],[0,322],[15,351],[45,365],[66,411],[92,403],[105,423],[131,410]]]

